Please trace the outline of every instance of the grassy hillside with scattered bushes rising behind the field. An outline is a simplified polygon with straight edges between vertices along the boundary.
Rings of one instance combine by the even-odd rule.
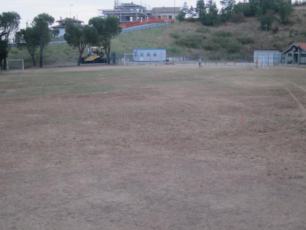
[[[197,56],[209,51],[222,53],[252,53],[254,49],[284,50],[293,42],[306,42],[306,7],[296,6],[290,25],[277,20],[266,34],[255,17],[238,24],[228,22],[218,27],[202,26],[198,22],[175,22],[172,25],[123,33],[112,42],[112,52],[118,56],[133,49],[167,49],[168,55]],[[78,51],[65,43],[49,44],[44,51],[45,65],[76,63]],[[38,61],[38,52],[37,52]],[[24,50],[12,48],[9,58],[23,58],[31,65],[31,57]]]

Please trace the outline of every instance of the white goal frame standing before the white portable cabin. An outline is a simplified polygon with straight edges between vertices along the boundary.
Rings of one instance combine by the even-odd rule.
[[[162,53],[124,54],[124,65],[163,64]]]

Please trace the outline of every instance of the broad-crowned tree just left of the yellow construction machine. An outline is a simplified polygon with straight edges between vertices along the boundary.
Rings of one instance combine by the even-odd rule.
[[[66,19],[65,23],[66,28],[64,38],[71,47],[78,48],[78,65],[80,65],[87,44],[96,44],[98,42],[97,30],[88,25],[84,28],[80,28],[80,26],[74,24],[71,19]]]

